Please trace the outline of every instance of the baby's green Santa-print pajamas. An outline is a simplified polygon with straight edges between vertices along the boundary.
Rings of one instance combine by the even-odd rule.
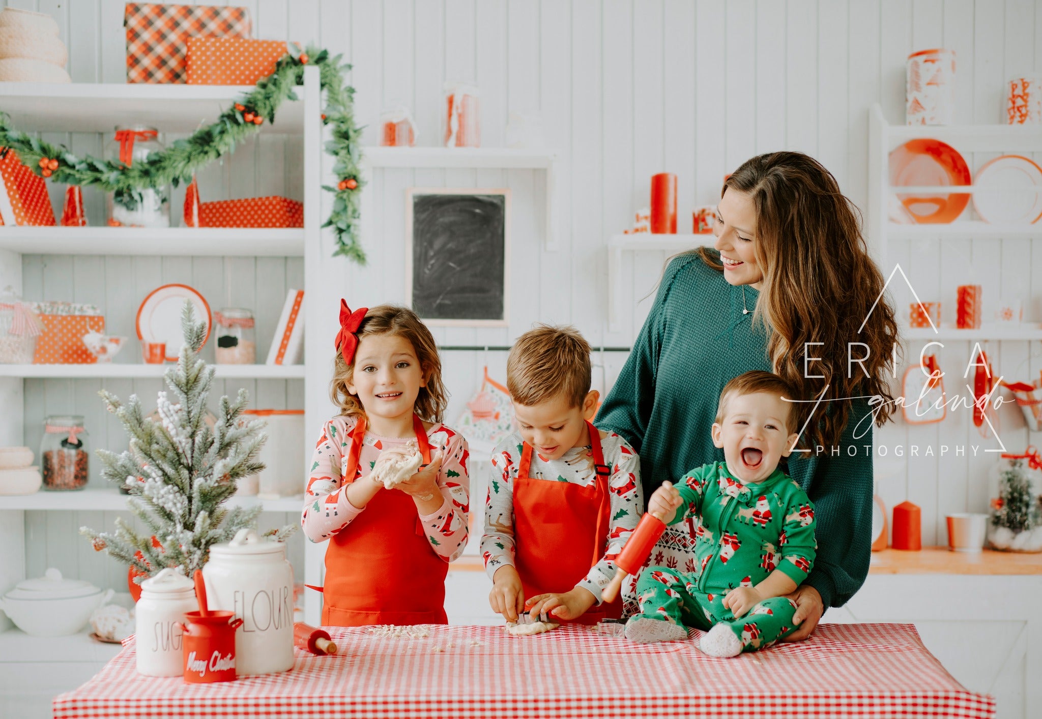
[[[684,504],[670,524],[700,519],[693,572],[647,567],[637,582],[641,616],[709,629],[726,622],[743,651],[762,649],[791,634],[795,602],[772,597],[736,619],[723,599],[738,587],[754,587],[775,571],[798,586],[814,566],[814,504],[780,469],[744,485],[726,463],[688,473],[676,485]]]

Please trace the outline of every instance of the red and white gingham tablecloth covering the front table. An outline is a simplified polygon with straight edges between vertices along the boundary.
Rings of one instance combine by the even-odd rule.
[[[131,640],[54,699],[54,718],[995,716],[994,699],[956,681],[911,624],[823,624],[807,642],[727,660],[697,642],[636,645],[582,627],[426,628],[396,639],[333,627],[336,656],[297,650],[290,672],[202,685],[140,676]]]

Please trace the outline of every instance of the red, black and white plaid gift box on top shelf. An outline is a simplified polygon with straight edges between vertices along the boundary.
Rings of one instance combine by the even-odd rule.
[[[245,7],[128,2],[123,26],[127,82],[184,82],[189,36],[250,36]]]

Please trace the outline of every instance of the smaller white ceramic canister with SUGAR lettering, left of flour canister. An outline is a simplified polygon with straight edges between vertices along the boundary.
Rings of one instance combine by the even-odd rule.
[[[139,674],[180,676],[184,673],[181,622],[185,612],[198,609],[195,585],[169,567],[141,582],[141,599],[134,608]]]

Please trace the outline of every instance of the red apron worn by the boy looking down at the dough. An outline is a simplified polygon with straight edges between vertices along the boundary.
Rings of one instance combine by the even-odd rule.
[[[525,598],[547,592],[571,591],[600,562],[607,544],[611,502],[600,432],[587,422],[597,480],[590,487],[570,481],[536,479],[528,475],[532,449],[526,442],[514,484],[514,562]],[[591,531],[591,527],[595,530]],[[616,598],[590,608],[574,620],[596,624],[605,617],[622,616]]]

